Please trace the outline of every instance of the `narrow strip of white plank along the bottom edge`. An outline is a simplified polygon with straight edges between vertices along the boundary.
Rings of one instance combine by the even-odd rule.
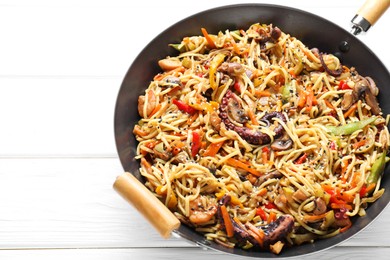
[[[299,259],[388,259],[390,248],[347,247],[332,248]],[[200,248],[131,248],[131,249],[67,249],[67,250],[0,250],[1,259],[83,259],[83,260],[128,260],[128,259],[185,259],[187,260],[237,260],[237,256]]]

